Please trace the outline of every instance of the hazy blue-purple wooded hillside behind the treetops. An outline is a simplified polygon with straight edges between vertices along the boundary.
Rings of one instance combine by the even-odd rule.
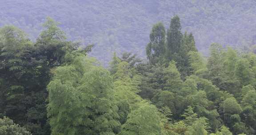
[[[175,14],[204,54],[212,42],[252,44],[255,7],[255,0],[0,0],[0,26],[13,24],[35,40],[50,16],[69,39],[94,43],[92,56],[106,64],[112,52],[144,56],[152,25],[162,21],[168,28]]]

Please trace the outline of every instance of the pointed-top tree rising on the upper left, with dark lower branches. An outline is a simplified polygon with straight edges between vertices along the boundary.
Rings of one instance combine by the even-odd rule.
[[[37,58],[45,61],[48,67],[60,66],[66,52],[78,49],[78,43],[66,41],[65,33],[58,27],[59,23],[48,17],[43,24],[44,31],[36,40]]]

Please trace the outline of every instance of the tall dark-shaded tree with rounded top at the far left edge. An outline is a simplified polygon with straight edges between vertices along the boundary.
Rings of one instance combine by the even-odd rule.
[[[36,47],[13,26],[0,29],[0,74],[5,113],[33,134],[48,134],[45,99],[49,69],[36,60]]]

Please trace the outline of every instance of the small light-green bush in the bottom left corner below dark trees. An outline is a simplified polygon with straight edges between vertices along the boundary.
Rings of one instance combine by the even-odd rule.
[[[0,118],[0,135],[32,135],[24,127],[13,123],[8,117]]]

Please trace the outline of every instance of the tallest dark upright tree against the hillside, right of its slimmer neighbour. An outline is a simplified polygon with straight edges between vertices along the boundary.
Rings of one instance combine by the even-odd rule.
[[[194,37],[192,33],[181,33],[180,18],[174,16],[167,31],[166,64],[172,60],[176,61],[182,79],[192,73],[188,56],[190,51],[197,52]]]

